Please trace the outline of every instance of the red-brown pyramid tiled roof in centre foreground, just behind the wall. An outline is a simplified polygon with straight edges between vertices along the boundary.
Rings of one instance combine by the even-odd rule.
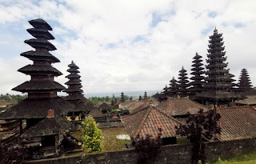
[[[138,134],[141,137],[150,134],[153,138],[157,138],[159,128],[162,129],[162,138],[175,137],[175,126],[180,125],[177,119],[163,114],[153,106],[123,117],[122,122],[130,134],[130,138],[134,139]]]

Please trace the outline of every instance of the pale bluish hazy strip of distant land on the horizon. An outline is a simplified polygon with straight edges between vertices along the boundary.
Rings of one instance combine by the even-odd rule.
[[[123,91],[123,93],[127,96],[133,96],[133,97],[138,97],[139,95],[143,96],[144,95],[145,90],[138,90],[138,91]],[[153,94],[156,94],[157,92],[160,93],[159,90],[146,90],[146,94],[148,96],[152,96]],[[90,98],[90,97],[112,97],[112,95],[114,94],[115,97],[120,97],[121,96],[121,92],[108,92],[108,93],[85,93],[85,97],[86,98]]]

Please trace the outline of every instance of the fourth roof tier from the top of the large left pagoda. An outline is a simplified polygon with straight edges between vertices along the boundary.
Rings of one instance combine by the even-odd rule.
[[[58,58],[54,57],[54,55],[50,54],[47,51],[26,51],[21,54],[21,56],[24,56],[26,58],[29,58],[30,60],[46,60],[49,62],[60,62]]]

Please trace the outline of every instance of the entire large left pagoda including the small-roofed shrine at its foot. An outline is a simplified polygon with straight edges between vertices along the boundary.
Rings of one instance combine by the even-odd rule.
[[[25,141],[34,142],[41,149],[51,146],[50,154],[58,155],[63,135],[70,128],[69,122],[64,116],[74,106],[58,97],[57,92],[65,89],[64,86],[54,81],[62,73],[55,69],[52,63],[60,62],[49,51],[56,50],[48,40],[54,39],[49,33],[50,25],[41,18],[29,21],[34,28],[27,31],[34,38],[26,40],[26,44],[35,50],[21,54],[29,58],[33,64],[19,69],[19,72],[30,75],[30,80],[16,86],[13,90],[27,93],[28,98],[13,106],[10,110],[0,115],[0,119],[20,120],[20,132],[22,134],[22,122],[26,121],[26,132],[22,134]]]

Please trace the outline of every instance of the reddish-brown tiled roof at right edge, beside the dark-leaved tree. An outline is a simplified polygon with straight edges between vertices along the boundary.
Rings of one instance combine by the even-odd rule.
[[[221,114],[220,140],[256,137],[256,110],[252,108],[228,108],[218,110]]]

